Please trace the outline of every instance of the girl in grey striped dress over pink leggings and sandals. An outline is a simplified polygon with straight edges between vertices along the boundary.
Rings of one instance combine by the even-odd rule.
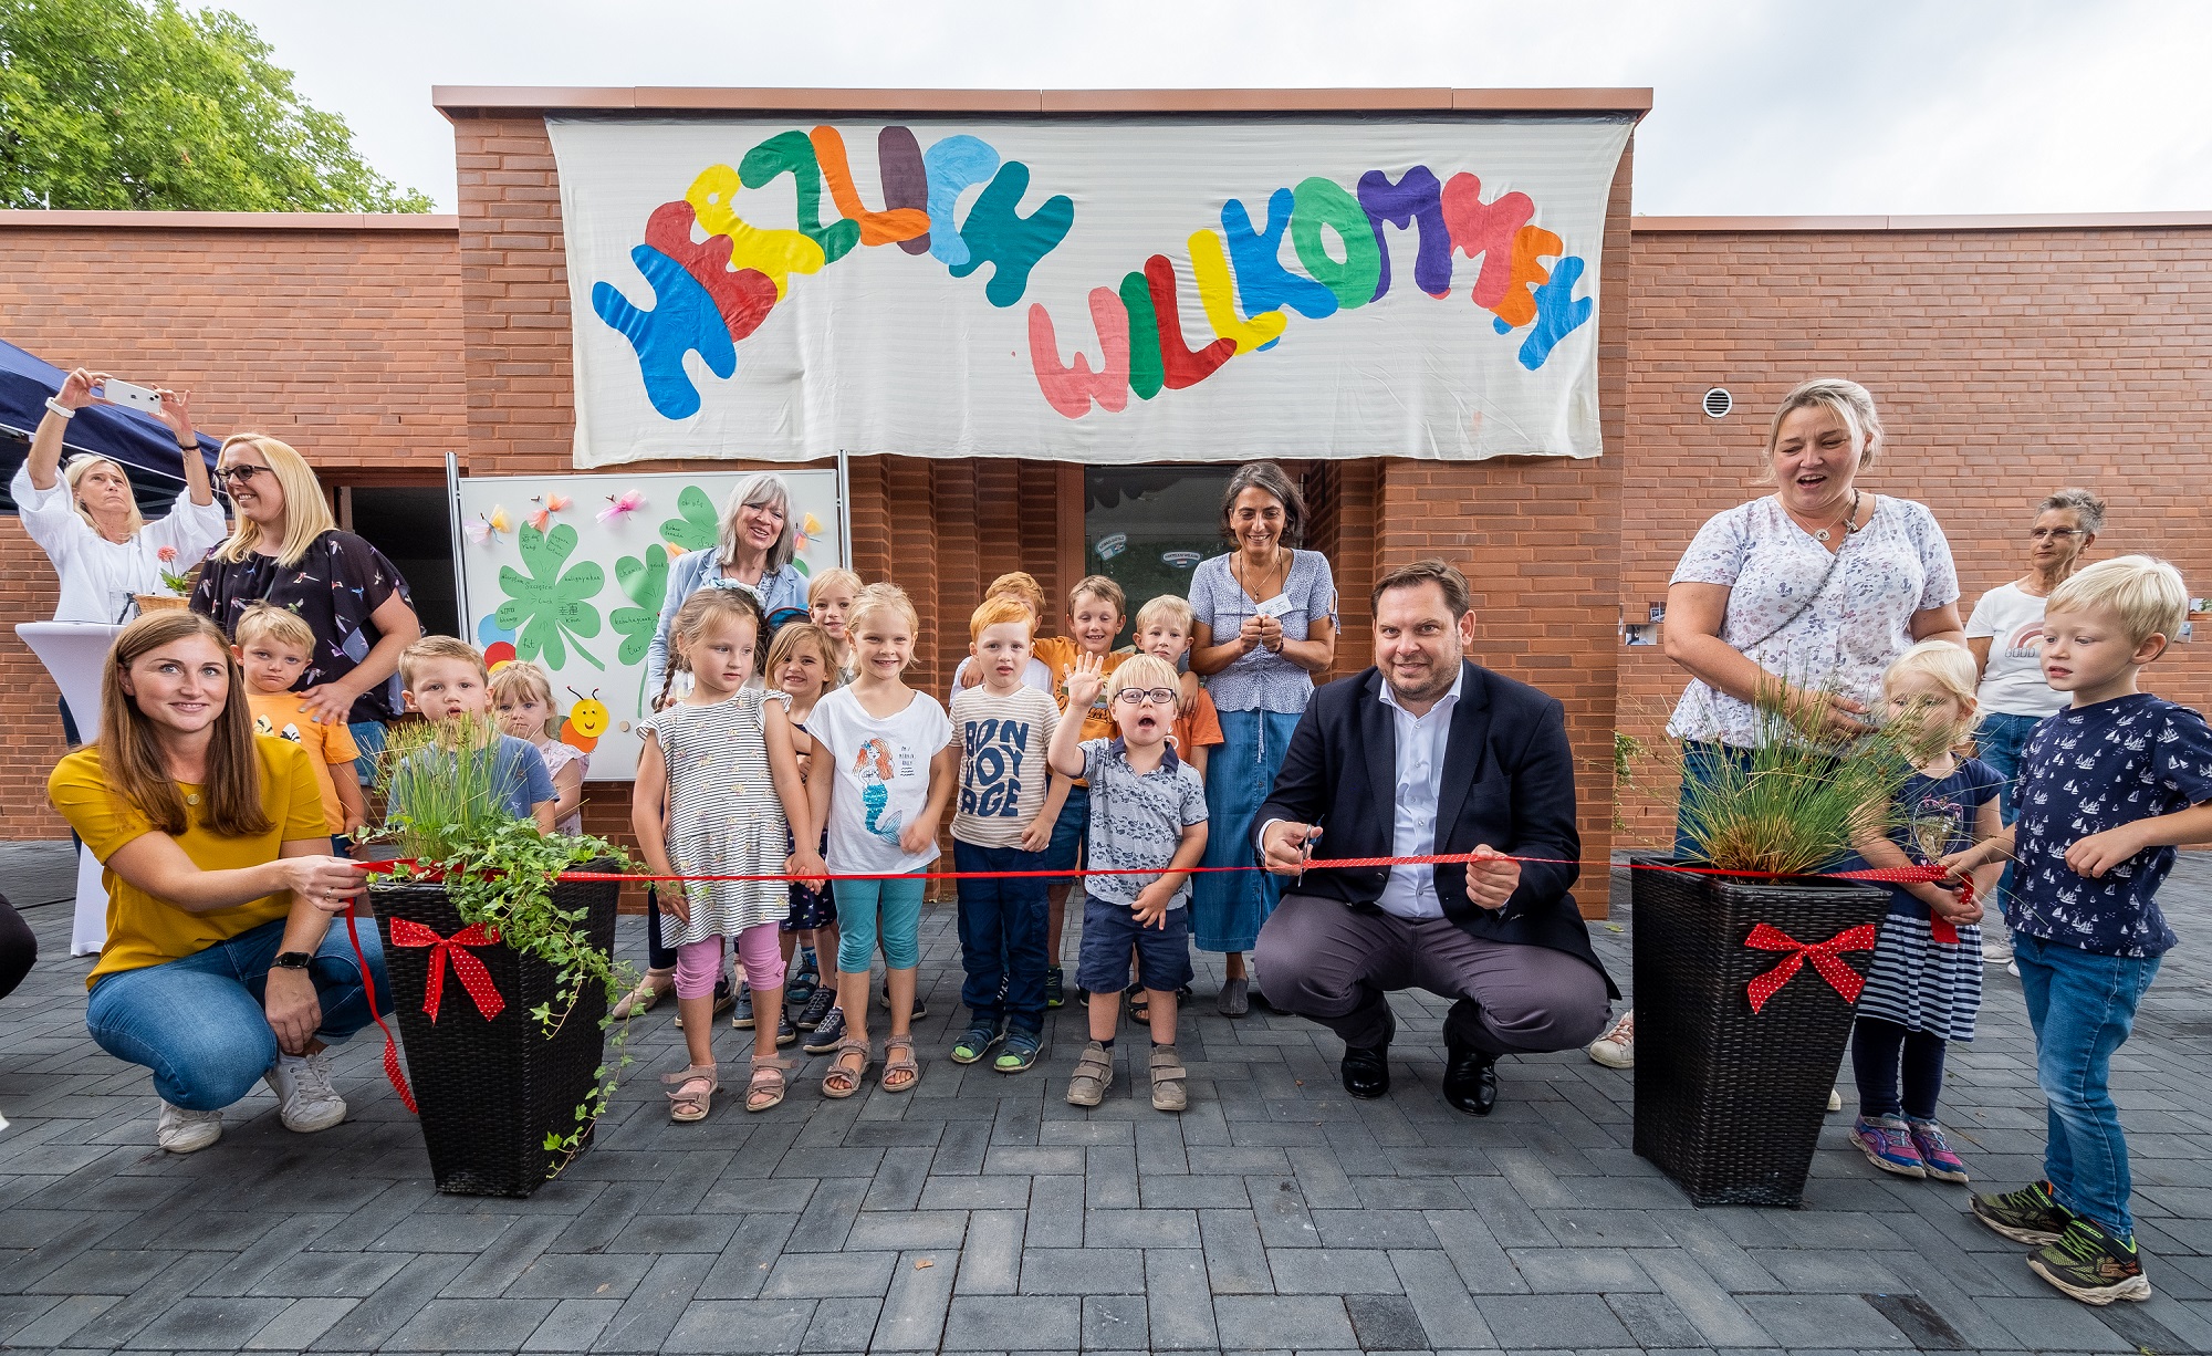
[[[761,880],[684,880],[661,891],[675,920],[677,1011],[690,1066],[664,1075],[668,1115],[706,1119],[714,1073],[714,978],[721,940],[737,942],[754,1011],[783,1011],[783,949],[776,940],[792,903],[783,872],[821,874],[816,830],[787,719],[790,697],[748,688],[761,604],[743,588],[701,588],[670,624],[668,677],[692,675],[681,701],[639,721],[637,785],[630,825],[655,876],[763,876]],[[664,695],[670,684],[664,684]],[[792,825],[799,849],[792,852]],[[790,1064],[776,1055],[770,1018],[752,1031],[745,1110],[783,1102]]]

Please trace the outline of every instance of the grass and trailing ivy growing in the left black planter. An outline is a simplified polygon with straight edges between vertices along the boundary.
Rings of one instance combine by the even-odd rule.
[[[498,748],[489,717],[394,726],[380,779],[392,823],[376,836],[400,845],[394,878],[442,878],[465,925],[482,922],[500,945],[553,969],[553,1002],[529,1013],[553,1040],[588,984],[597,984],[613,1009],[637,982],[630,967],[591,942],[584,909],[553,903],[553,883],[582,863],[611,858],[628,869],[630,858],[606,838],[540,834],[535,821],[511,814],[498,796]],[[602,1031],[611,1024],[613,1018],[599,1018]],[[562,1155],[546,1177],[557,1177],[582,1152],[584,1135],[606,1115],[619,1071],[630,1064],[628,1031],[628,1022],[615,1031],[615,1064],[593,1071],[597,1082],[575,1108],[575,1126],[546,1130],[544,1148]]]

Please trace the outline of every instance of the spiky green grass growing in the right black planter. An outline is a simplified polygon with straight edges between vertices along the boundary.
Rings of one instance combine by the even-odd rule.
[[[1692,856],[1730,872],[1805,876],[1851,852],[1851,841],[1887,832],[1898,790],[1911,774],[1909,732],[1887,726],[1851,741],[1812,739],[1781,695],[1761,697],[1759,728],[1743,761],[1719,759],[1683,779],[1683,752],[1666,745],[1683,785],[1683,832]]]

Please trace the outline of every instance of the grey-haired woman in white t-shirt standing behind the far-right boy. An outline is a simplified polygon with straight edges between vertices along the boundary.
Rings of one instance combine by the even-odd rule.
[[[2062,489],[2035,507],[2028,529],[2028,573],[2011,584],[1997,584],[1973,604],[1966,619],[1966,648],[1982,670],[1975,699],[1982,723],[1973,732],[1975,750],[2004,781],[1997,785],[1997,810],[2013,823],[2013,776],[2020,774],[2020,750],[2044,717],[2066,706],[2064,692],[2044,681],[2044,602],[2066,582],[2088,555],[2104,526],[2104,500],[2086,489]],[[2000,646],[1997,639],[2004,639]],[[2013,869],[1997,883],[2000,896],[2013,887]],[[1995,918],[1995,911],[1991,914]],[[1982,956],[1991,962],[2013,958],[2000,927],[1984,927]]]

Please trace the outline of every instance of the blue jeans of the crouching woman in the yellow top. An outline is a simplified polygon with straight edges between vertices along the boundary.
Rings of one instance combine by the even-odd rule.
[[[241,931],[206,951],[102,976],[84,1004],[84,1029],[102,1051],[153,1068],[153,1091],[186,1110],[221,1110],[250,1093],[276,1062],[276,1033],[263,1013],[270,960],[283,945],[283,918]],[[361,956],[376,980],[378,1015],[392,1011],[385,949],[363,920]],[[323,1024],[316,1037],[338,1044],[369,1024],[361,962],[336,918],[307,967]]]

